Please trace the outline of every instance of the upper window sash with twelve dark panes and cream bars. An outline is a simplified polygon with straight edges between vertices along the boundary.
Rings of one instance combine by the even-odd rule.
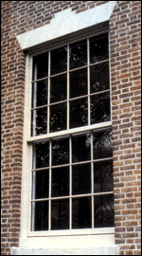
[[[36,58],[37,58],[38,62],[36,64],[36,61],[35,61],[34,65],[33,65],[33,70],[35,70],[35,71],[32,72],[32,78],[31,78],[31,83],[30,83],[32,85],[32,104],[31,104],[30,113],[32,116],[32,120],[34,120],[34,121],[36,121],[34,119],[34,116],[36,116],[37,113],[39,113],[38,114],[39,116],[41,116],[41,115],[46,116],[46,114],[47,114],[47,117],[45,118],[46,119],[46,123],[45,123],[46,127],[44,129],[44,133],[43,134],[39,133],[38,139],[41,139],[41,137],[43,137],[43,138],[50,137],[50,136],[54,137],[55,135],[61,136],[61,135],[64,135],[64,133],[70,134],[70,131],[72,131],[74,133],[74,131],[77,131],[77,130],[80,131],[80,129],[85,131],[85,130],[88,130],[88,128],[94,129],[94,128],[98,128],[98,127],[103,127],[103,126],[105,126],[105,124],[106,124],[106,126],[111,125],[110,102],[107,103],[109,105],[109,110],[108,110],[109,117],[107,119],[103,120],[103,118],[102,118],[102,119],[99,119],[96,123],[94,123],[95,122],[93,120],[94,118],[92,118],[93,114],[91,114],[91,111],[92,111],[91,104],[93,104],[93,108],[94,107],[99,108],[98,97],[100,97],[100,99],[102,99],[100,101],[103,102],[100,105],[105,105],[106,100],[104,100],[104,99],[107,99],[106,97],[108,97],[107,101],[110,101],[109,100],[110,99],[109,42],[107,43],[108,53],[107,53],[107,51],[105,51],[106,53],[105,52],[104,53],[106,54],[106,56],[105,57],[100,56],[101,48],[104,49],[106,40],[108,40],[108,38],[105,34],[105,35],[98,36],[98,37],[90,37],[86,41],[83,40],[83,41],[80,41],[80,42],[77,42],[74,44],[70,44],[70,45],[66,46],[66,48],[60,47],[57,50],[55,49],[53,51],[45,52],[43,54],[43,56],[47,57],[47,58],[44,58],[44,63],[46,64],[47,68],[43,68],[43,69],[41,68],[41,64],[43,64],[43,63],[42,63],[42,61],[40,61],[40,57],[42,55],[32,57],[32,58],[35,58],[34,60],[36,60]],[[90,46],[89,46],[89,41],[90,41]],[[83,61],[81,59],[81,61],[80,61],[80,51],[81,50],[84,51],[84,49],[83,49],[84,42],[86,44],[86,60]],[[80,49],[79,53],[78,53],[77,49],[78,49],[78,47],[80,48],[81,44],[82,44],[82,49]],[[95,44],[97,45],[96,46],[97,50],[98,50],[98,46],[100,45],[100,52],[98,50],[98,57],[100,57],[99,62],[98,62],[98,57],[95,56],[95,53],[94,53]],[[71,50],[69,49],[69,46],[70,46],[71,50],[73,52],[75,52],[75,58],[76,58],[75,62],[73,61],[73,58],[71,55]],[[59,56],[60,56],[60,51],[62,49],[64,50],[64,48],[67,51],[66,52],[67,64],[65,64],[66,65],[65,68],[63,66],[61,67],[61,70],[60,70],[61,73],[59,73],[59,70],[53,70],[53,68],[52,68],[52,63],[54,63],[54,59],[52,61],[52,56],[57,55],[57,54],[59,54]],[[79,60],[79,62],[78,62],[78,60]],[[36,71],[38,66],[39,66],[39,75],[37,75],[37,71]],[[54,67],[54,64],[53,64],[53,67]],[[103,70],[105,70],[105,69],[107,72],[106,76],[103,75]],[[51,70],[51,72],[50,72],[50,70]],[[43,77],[41,78],[42,72],[44,73],[44,78]],[[91,77],[90,77],[90,73],[91,73]],[[99,73],[101,73],[101,75],[103,75],[102,81],[105,80],[105,82],[101,82]],[[98,78],[98,76],[99,76],[99,78]],[[80,79],[80,77],[82,77],[82,78]],[[107,79],[106,79],[106,77],[107,77]],[[75,78],[75,81],[77,82],[77,86],[78,86],[78,83],[80,85],[81,82],[83,83],[85,81],[84,92],[82,92],[80,90],[80,86],[78,88],[79,93],[78,92],[76,93],[76,90],[75,90],[76,86],[73,87],[74,90],[72,90],[72,91],[70,90],[71,85],[72,84],[74,85],[74,78]],[[80,79],[80,82],[78,82],[79,79]],[[94,84],[94,80],[98,80],[98,82],[96,82],[97,83],[96,85]],[[58,94],[55,92],[56,90],[54,90],[54,86],[52,85],[52,84],[55,84],[60,81],[61,81],[61,84],[62,84],[62,82],[64,82],[64,85],[63,85],[64,88],[66,86],[66,92],[64,93],[63,90],[61,91],[61,94],[62,94],[61,99],[58,96]],[[102,86],[101,89],[99,89],[100,86],[98,87],[99,83],[101,83],[100,84]],[[104,83],[106,83],[106,85]],[[39,85],[39,90],[38,90],[37,84]],[[40,99],[41,86],[43,86],[43,94],[45,92],[43,101]],[[59,89],[60,89],[60,86],[59,86]],[[54,101],[51,99],[51,92],[54,95],[54,98],[55,98]],[[39,95],[36,98],[36,94],[38,94],[38,93],[39,93]],[[88,104],[87,111],[86,111],[86,120],[87,121],[85,123],[80,122],[79,125],[78,124],[74,125],[74,121],[73,121],[73,124],[71,124],[69,117],[71,117],[71,115],[72,115],[72,117],[74,118],[74,115],[76,115],[76,111],[72,111],[72,108],[76,108],[76,106],[79,104],[79,102],[80,102],[80,106],[81,106],[81,103],[84,104],[85,101],[87,102],[86,106]],[[97,101],[97,104],[95,105],[96,101]],[[49,123],[51,122],[49,113],[50,113],[50,115],[52,114],[54,116],[56,111],[58,109],[60,109],[61,107],[64,108],[64,110],[62,109],[62,111],[64,111],[64,112],[62,112],[62,117],[64,116],[64,114],[66,117],[66,118],[64,118],[64,120],[66,122],[65,127],[63,127],[62,129],[59,128],[57,130],[56,130],[56,128],[54,128],[55,130],[51,129],[51,127],[49,125]],[[42,111],[44,114],[42,113]],[[105,107],[104,107],[103,111],[106,111]],[[78,113],[79,113],[79,111],[78,111]],[[105,114],[104,114],[104,116],[105,116]],[[99,115],[98,115],[98,118],[99,118]],[[39,123],[41,124],[41,120],[39,120]],[[33,127],[35,127],[35,125],[33,125]],[[56,127],[56,123],[55,123],[54,127]],[[49,128],[50,128],[50,131],[49,131]],[[31,141],[31,140],[33,140],[32,138],[35,138],[35,137],[37,139],[37,136],[35,136],[34,129],[32,129],[32,136],[33,137],[30,137],[30,139],[28,139],[28,140]]]

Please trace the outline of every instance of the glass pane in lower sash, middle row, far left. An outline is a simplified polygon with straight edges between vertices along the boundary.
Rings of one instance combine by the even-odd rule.
[[[49,194],[49,171],[33,172],[35,181],[35,199],[47,198]]]

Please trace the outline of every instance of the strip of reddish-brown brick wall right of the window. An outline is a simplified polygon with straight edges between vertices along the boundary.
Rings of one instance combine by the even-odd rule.
[[[141,2],[119,1],[110,21],[115,243],[140,255]]]

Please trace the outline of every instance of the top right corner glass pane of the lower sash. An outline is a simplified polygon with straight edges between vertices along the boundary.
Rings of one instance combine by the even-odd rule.
[[[94,133],[93,139],[94,159],[113,156],[112,131]]]

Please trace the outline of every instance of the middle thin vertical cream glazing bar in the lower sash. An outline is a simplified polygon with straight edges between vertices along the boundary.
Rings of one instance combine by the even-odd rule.
[[[70,166],[69,166],[69,195],[70,195],[70,198],[69,198],[69,229],[72,229],[72,198],[71,198],[71,195],[72,195],[72,137],[70,136],[69,137],[69,155],[70,155],[70,158],[69,158],[69,162],[70,162]]]

